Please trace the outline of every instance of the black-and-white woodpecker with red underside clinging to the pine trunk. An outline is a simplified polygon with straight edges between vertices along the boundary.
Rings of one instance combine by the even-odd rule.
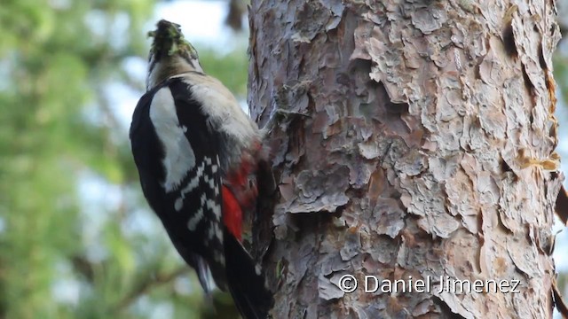
[[[229,89],[203,72],[179,25],[162,19],[148,35],[146,94],[130,124],[142,191],[203,290],[211,292],[212,276],[244,318],[264,319],[272,294],[241,245],[265,158],[263,133]]]

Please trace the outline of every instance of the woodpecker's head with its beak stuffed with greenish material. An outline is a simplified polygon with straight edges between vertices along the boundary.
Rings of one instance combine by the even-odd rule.
[[[197,51],[187,42],[178,24],[162,19],[148,36],[154,38],[148,57],[146,89],[154,88],[170,76],[189,71],[203,73]]]

